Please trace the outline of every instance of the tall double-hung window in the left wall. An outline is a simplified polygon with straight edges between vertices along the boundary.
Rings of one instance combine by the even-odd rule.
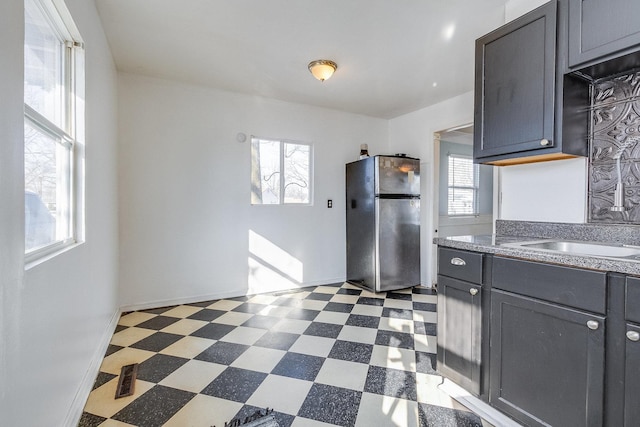
[[[82,43],[64,4],[25,0],[24,180],[25,251],[34,258],[76,238],[77,177],[82,120]]]

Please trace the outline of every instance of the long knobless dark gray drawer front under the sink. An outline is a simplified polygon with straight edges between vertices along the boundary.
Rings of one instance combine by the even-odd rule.
[[[494,257],[493,288],[606,314],[607,274]]]

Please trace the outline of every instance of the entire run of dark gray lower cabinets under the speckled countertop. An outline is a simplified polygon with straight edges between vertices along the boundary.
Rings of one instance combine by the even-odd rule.
[[[529,427],[640,425],[640,277],[439,248],[438,371]]]

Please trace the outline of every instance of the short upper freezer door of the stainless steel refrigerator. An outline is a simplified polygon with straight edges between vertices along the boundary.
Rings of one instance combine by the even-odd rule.
[[[420,160],[375,156],[376,194],[420,194]]]

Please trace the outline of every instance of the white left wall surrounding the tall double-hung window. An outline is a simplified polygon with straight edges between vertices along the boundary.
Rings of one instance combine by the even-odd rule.
[[[86,43],[86,242],[24,268],[24,2],[0,13],[0,424],[77,424],[117,312],[116,80],[94,3]]]

